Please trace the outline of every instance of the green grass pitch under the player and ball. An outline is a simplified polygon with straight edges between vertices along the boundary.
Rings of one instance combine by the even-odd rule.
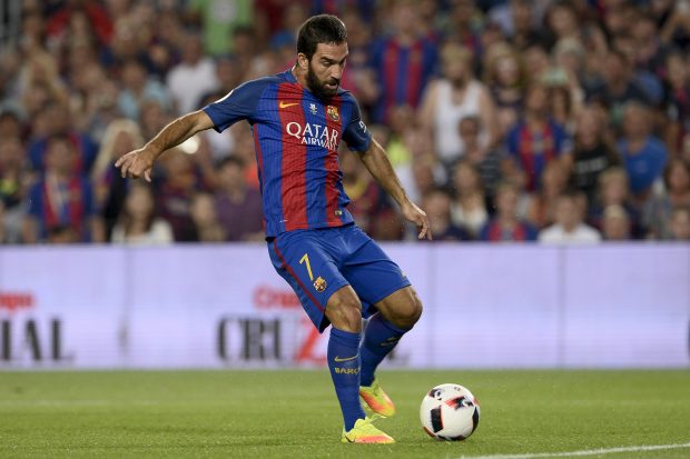
[[[326,370],[0,372],[0,458],[459,458],[690,442],[690,371],[387,371],[393,446],[341,445]],[[426,390],[482,406],[466,441],[421,429]],[[688,458],[690,449],[607,458]]]

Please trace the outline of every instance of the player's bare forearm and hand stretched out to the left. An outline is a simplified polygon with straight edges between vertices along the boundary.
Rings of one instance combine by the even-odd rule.
[[[214,122],[204,110],[194,111],[177,118],[161,129],[147,144],[122,156],[115,163],[122,177],[137,179],[141,176],[151,181],[154,161],[166,150],[183,143],[199,131],[210,129]]]

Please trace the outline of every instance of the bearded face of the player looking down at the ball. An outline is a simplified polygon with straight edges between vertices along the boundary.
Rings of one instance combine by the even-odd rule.
[[[317,44],[307,70],[307,84],[314,96],[328,100],[337,93],[347,53],[347,43]]]

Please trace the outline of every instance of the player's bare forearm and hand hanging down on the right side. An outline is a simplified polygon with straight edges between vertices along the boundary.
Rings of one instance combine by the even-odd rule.
[[[372,177],[374,177],[384,190],[398,203],[403,217],[420,228],[418,238],[431,240],[432,233],[428,229],[426,212],[420,209],[417,204],[412,202],[410,197],[407,197],[383,147],[376,140],[372,139],[368,149],[359,153],[359,159],[362,159],[362,162]]]

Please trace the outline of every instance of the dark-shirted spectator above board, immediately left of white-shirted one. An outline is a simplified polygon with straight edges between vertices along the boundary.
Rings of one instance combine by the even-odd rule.
[[[490,242],[534,241],[536,230],[518,218],[519,188],[503,182],[496,190],[496,214],[484,226],[480,239]]]

